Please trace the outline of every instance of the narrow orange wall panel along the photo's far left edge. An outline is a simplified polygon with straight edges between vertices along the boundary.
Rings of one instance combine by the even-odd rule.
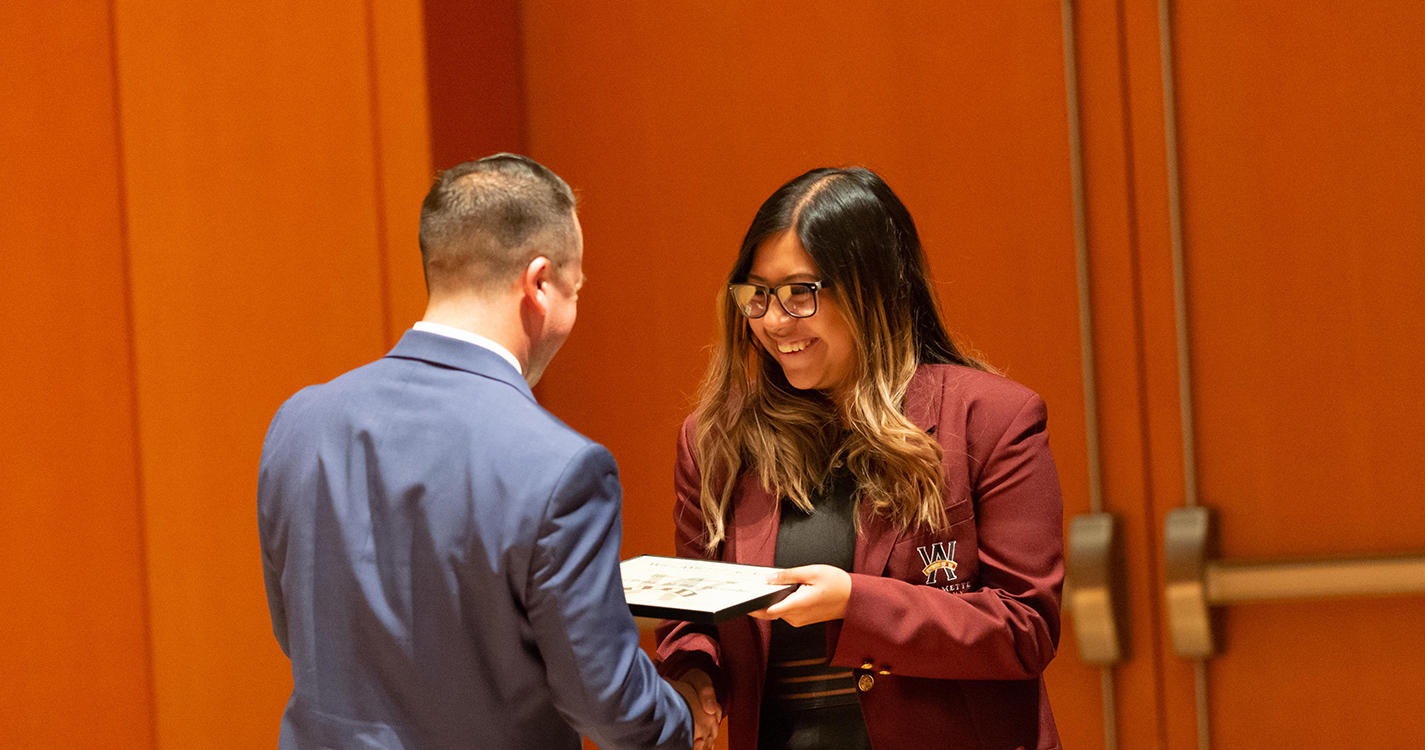
[[[148,747],[108,4],[4,4],[0,68],[0,746]]]

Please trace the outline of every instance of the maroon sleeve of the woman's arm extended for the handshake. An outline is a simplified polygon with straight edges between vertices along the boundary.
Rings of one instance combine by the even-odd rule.
[[[707,559],[703,545],[703,476],[693,451],[693,419],[684,422],[678,432],[678,459],[674,465],[673,489],[673,542],[680,558]],[[681,677],[691,669],[701,669],[717,689],[718,702],[728,706],[728,680],[721,667],[722,650],[718,644],[717,627],[688,622],[663,620],[657,629],[658,672],[670,680]]]

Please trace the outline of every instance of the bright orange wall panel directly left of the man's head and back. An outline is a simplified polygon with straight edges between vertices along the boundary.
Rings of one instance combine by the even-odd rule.
[[[373,93],[403,93],[372,54],[412,46],[372,37],[385,13],[118,6],[160,747],[276,739],[291,682],[256,552],[258,451],[288,395],[390,337],[382,198],[409,185],[378,163],[375,128],[400,117]]]

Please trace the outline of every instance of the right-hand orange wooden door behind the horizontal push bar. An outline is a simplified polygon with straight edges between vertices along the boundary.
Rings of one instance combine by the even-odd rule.
[[[1080,29],[1096,11],[1079,9]],[[1120,689],[1104,729],[1121,747],[1418,746],[1425,603],[1352,595],[1409,589],[1425,565],[1425,20],[1404,1],[1178,3],[1166,24],[1149,3],[1116,11],[1123,123],[1114,137],[1084,118],[1130,154],[1134,205],[1136,394],[1106,372],[1127,364],[1124,331],[1094,318],[1133,644],[1110,672],[1121,687],[1151,657],[1157,686],[1151,713]],[[1109,272],[1094,292],[1112,298]],[[1136,438],[1113,422],[1130,411]],[[1140,495],[1112,486],[1124,465]],[[1163,535],[1194,503],[1216,518],[1214,556],[1314,562],[1297,580],[1337,590],[1213,607],[1213,654],[1180,656]],[[1384,582],[1311,580],[1322,559],[1377,555],[1411,558]]]

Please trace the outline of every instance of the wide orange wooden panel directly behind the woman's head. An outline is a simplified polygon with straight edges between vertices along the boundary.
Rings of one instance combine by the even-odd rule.
[[[789,17],[747,9],[526,7],[530,148],[583,191],[590,278],[546,401],[621,448],[630,543],[668,545],[673,436],[750,217],[778,184],[824,164],[864,163],[898,188],[950,325],[1047,391],[1066,486],[1082,496],[1059,6],[1019,7],[1009,19],[975,4],[922,16],[838,7],[792,38],[774,31]],[[668,29],[697,33],[656,33]],[[836,43],[868,33],[846,64]],[[845,70],[828,86],[834,66]],[[1003,80],[980,80],[988,71]],[[656,512],[647,530],[644,512]]]

